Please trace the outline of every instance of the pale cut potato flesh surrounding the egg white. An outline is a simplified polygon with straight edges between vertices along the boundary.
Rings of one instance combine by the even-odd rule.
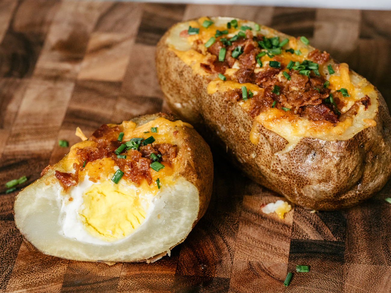
[[[46,185],[49,172],[23,189],[14,205],[15,222],[23,236],[45,254],[79,261],[139,261],[169,250],[186,238],[197,218],[197,188],[179,178],[163,186],[154,209],[140,228],[122,241],[109,245],[83,243],[63,236],[56,184]]]

